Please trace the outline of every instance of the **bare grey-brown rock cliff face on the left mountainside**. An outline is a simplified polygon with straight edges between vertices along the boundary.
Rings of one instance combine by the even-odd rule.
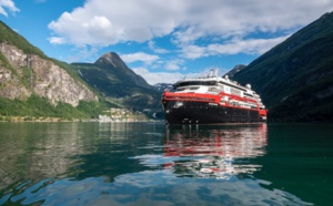
[[[31,94],[47,97],[52,104],[64,102],[73,106],[81,100],[98,101],[82,82],[52,61],[0,43],[0,95],[24,100]]]

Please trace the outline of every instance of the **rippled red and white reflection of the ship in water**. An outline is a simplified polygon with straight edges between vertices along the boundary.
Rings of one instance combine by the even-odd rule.
[[[266,124],[169,131],[164,155],[174,161],[165,167],[180,176],[230,178],[251,174],[261,168],[251,158],[265,154],[266,137]]]

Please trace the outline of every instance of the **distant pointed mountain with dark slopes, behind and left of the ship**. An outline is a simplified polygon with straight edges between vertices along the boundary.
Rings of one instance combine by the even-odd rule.
[[[94,63],[72,63],[71,68],[101,95],[118,99],[127,107],[161,110],[160,95],[143,78],[135,74],[114,52]]]

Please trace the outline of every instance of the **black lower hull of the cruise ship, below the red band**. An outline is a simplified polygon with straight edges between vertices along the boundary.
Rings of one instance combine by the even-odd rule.
[[[258,110],[223,106],[208,102],[164,101],[167,124],[219,124],[265,122]]]

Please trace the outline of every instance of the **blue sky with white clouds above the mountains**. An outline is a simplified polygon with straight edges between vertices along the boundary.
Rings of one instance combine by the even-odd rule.
[[[150,84],[249,64],[331,11],[332,0],[0,0],[0,20],[50,58],[115,52]]]

